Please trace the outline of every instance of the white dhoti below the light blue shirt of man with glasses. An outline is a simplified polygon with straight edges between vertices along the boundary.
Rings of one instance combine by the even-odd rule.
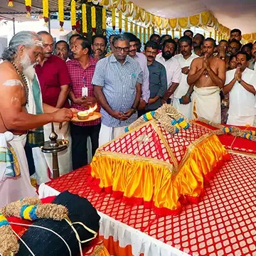
[[[113,139],[122,136],[124,134],[125,127],[107,127],[102,124],[100,127],[100,135],[99,135],[99,146],[106,144],[107,142],[111,142]]]

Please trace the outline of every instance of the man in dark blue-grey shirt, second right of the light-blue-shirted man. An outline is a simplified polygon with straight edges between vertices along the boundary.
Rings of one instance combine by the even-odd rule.
[[[164,92],[167,90],[167,76],[164,65],[156,61],[158,46],[153,41],[148,41],[144,48],[147,65],[149,68],[149,104],[146,105],[146,112],[157,110],[161,107],[161,97],[164,97]]]

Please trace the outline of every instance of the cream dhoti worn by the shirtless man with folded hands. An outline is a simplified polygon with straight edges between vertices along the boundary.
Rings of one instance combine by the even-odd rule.
[[[193,119],[203,117],[211,122],[220,124],[220,89],[217,86],[194,87],[191,97],[191,115]]]

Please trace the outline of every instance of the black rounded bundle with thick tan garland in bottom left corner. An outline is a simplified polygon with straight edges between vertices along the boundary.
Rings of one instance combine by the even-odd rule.
[[[99,220],[86,198],[68,191],[23,198],[0,210],[0,255],[110,256],[97,238]]]

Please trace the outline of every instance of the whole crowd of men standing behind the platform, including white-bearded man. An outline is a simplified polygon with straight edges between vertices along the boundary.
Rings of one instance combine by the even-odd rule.
[[[70,141],[63,165],[60,161],[67,171],[88,163],[88,137],[93,156],[139,116],[163,104],[188,119],[253,125],[256,43],[242,46],[241,40],[239,29],[218,46],[190,30],[178,40],[153,34],[141,52],[142,43],[132,33],[112,35],[109,41],[97,35],[92,43],[78,34],[54,43],[46,31],[17,33],[0,64],[0,146],[14,148],[18,169],[11,161],[1,163],[0,207],[33,196],[28,169],[31,175],[47,176],[45,169],[38,171],[50,166],[39,146],[50,134],[50,122],[63,122],[62,127],[55,124],[56,132]],[[70,122],[74,112],[96,103],[101,119]]]

